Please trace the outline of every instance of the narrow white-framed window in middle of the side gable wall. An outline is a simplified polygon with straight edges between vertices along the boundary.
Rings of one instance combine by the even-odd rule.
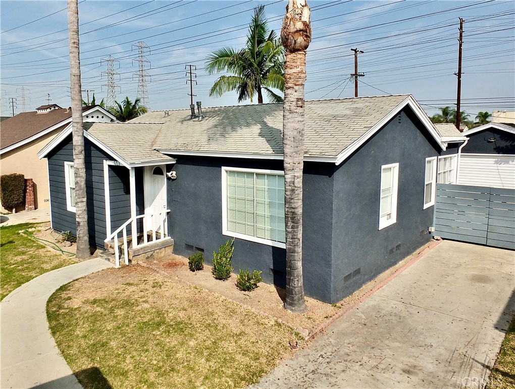
[[[379,229],[397,222],[397,193],[399,164],[381,166],[381,195],[379,203]]]

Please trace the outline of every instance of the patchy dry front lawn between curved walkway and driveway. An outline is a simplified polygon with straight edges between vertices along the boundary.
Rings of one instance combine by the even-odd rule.
[[[245,387],[304,345],[273,319],[141,266],[64,285],[47,315],[86,389]]]

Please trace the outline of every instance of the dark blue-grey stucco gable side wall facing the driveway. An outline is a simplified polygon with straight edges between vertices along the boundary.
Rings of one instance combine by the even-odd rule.
[[[431,239],[428,227],[433,225],[434,206],[423,210],[424,170],[425,158],[437,156],[438,146],[410,118],[418,123],[406,109],[336,168],[331,302],[353,293]],[[397,223],[378,230],[381,166],[397,162]]]

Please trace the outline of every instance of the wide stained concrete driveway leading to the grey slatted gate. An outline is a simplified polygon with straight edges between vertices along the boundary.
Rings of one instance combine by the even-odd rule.
[[[255,387],[483,387],[515,310],[514,267],[514,251],[445,241]]]

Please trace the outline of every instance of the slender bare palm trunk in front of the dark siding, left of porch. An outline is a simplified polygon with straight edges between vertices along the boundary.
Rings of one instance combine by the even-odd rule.
[[[70,86],[72,98],[72,141],[75,170],[75,208],[77,224],[77,258],[90,257],[88,208],[86,204],[86,168],[82,129],[82,95],[80,93],[79,10],[77,0],[68,0],[68,44],[70,47]]]

